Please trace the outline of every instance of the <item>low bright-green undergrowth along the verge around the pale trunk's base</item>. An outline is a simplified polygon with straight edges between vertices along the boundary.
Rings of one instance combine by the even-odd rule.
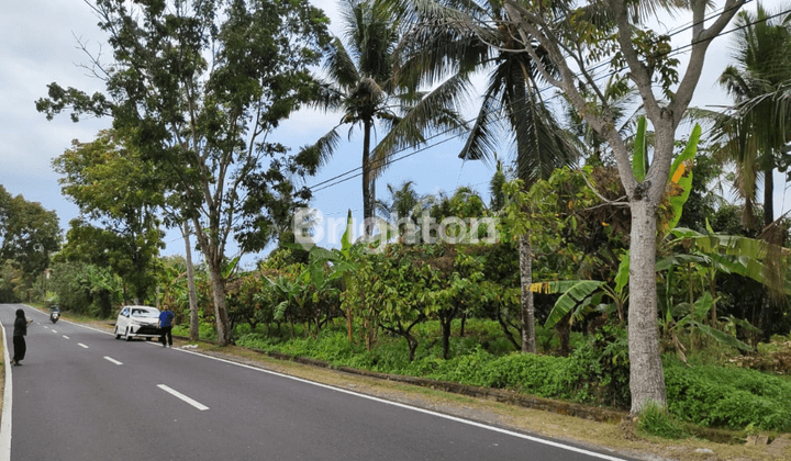
[[[405,341],[380,338],[371,351],[350,345],[343,331],[326,329],[317,339],[276,340],[252,333],[241,346],[324,360],[383,373],[421,376],[482,387],[506,389],[547,398],[630,408],[628,353],[621,329],[604,329],[569,357],[493,355],[469,338],[452,338],[458,353],[448,360],[423,341],[412,362]],[[791,381],[754,370],[711,364],[689,367],[665,357],[668,409],[681,420],[706,427],[791,430]]]

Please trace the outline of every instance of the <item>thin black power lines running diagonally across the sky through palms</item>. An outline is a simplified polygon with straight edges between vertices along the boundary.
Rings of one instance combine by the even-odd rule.
[[[747,3],[750,3],[751,1],[753,1],[753,0],[748,0],[748,1],[746,1],[745,3],[743,3],[740,7],[743,7],[743,5],[747,4]],[[740,7],[739,7],[739,8],[740,8]],[[726,11],[729,11],[729,10],[732,10],[732,9],[735,9],[735,8],[736,8],[736,7],[731,7],[729,9],[723,9],[723,11],[720,12],[720,13],[712,13],[712,14],[710,14],[709,16],[706,16],[705,19],[703,19],[703,21],[701,21],[701,22],[704,22],[704,21],[706,21],[706,20],[709,20],[709,19],[711,19],[711,18],[713,18],[713,16],[715,16],[715,15],[716,15],[716,16],[722,15],[722,14],[725,13]],[[744,29],[749,27],[749,26],[751,26],[751,25],[755,25],[755,24],[758,24],[758,23],[761,23],[761,22],[766,22],[766,21],[769,21],[769,20],[771,20],[771,19],[778,18],[778,16],[780,16],[780,15],[788,14],[788,13],[791,13],[791,9],[786,10],[786,11],[782,11],[782,12],[777,13],[777,14],[773,14],[773,15],[771,15],[771,16],[767,16],[767,18],[760,19],[760,20],[755,21],[755,22],[751,22],[751,23],[744,24],[744,25],[742,25],[742,26],[739,26],[739,27],[735,27],[735,29],[732,29],[732,30],[728,30],[728,31],[720,32],[718,34],[714,35],[713,37],[705,38],[704,41],[712,41],[712,40],[714,40],[714,38],[716,38],[716,37],[724,36],[724,35],[728,35],[728,34],[734,33],[734,32],[737,32],[737,31],[739,31],[739,30],[744,30]],[[673,35],[677,35],[677,34],[679,34],[679,33],[682,33],[682,32],[684,32],[684,31],[693,27],[695,24],[698,24],[698,23],[688,24],[687,26],[680,29],[679,31],[676,31],[676,32],[672,32],[671,34],[668,34],[668,36],[673,36]],[[692,47],[692,46],[694,46],[694,45],[697,45],[698,43],[701,43],[701,42],[703,42],[703,41],[698,41],[698,42],[694,42],[694,43],[689,43],[689,44],[682,45],[682,46],[680,46],[680,47],[678,47],[678,48],[676,48],[676,49],[671,49],[671,50],[669,50],[669,52],[666,52],[665,55],[666,55],[666,56],[677,55],[677,54],[679,54],[679,53],[682,53],[684,49],[690,48],[690,47]],[[609,63],[606,63],[606,61],[600,63],[600,64],[595,65],[594,67],[592,67],[591,69],[589,69],[589,71],[593,71],[593,70],[599,69],[599,68],[601,68],[601,67],[604,67],[604,66],[606,66],[606,65],[609,65]],[[605,74],[605,75],[603,75],[603,76],[601,76],[601,77],[598,77],[598,78],[593,79],[593,81],[599,81],[599,80],[602,80],[602,79],[604,79],[604,78],[612,77],[612,76],[621,72],[621,71],[624,70],[624,69],[625,69],[625,68],[621,68],[621,69],[614,70],[614,71],[611,71],[611,72],[609,72],[609,74]],[[577,75],[577,77],[579,77],[579,75]],[[556,88],[556,87],[554,87],[554,86],[548,86],[548,87],[545,87],[545,88],[543,88],[543,89],[539,89],[539,90],[537,91],[537,93],[541,94],[541,93],[543,93],[543,92],[545,92],[545,91],[548,91],[548,90],[552,90],[552,89],[554,89],[554,88]],[[547,102],[548,102],[548,101],[552,101],[553,99],[558,98],[558,95],[559,95],[559,94],[555,94],[555,95],[553,95],[552,98],[547,99],[546,101],[547,101]],[[513,104],[513,103],[512,103],[512,104]],[[500,111],[500,110],[502,110],[502,109],[503,109],[503,106],[501,105],[501,106],[498,108],[497,110]],[[500,116],[500,119],[501,119],[501,117],[502,117],[502,116]],[[478,119],[477,116],[476,116],[475,119],[470,119],[470,120],[467,121],[467,123],[471,123],[471,122],[476,121],[477,119]],[[434,138],[439,137],[439,136],[444,136],[444,135],[446,135],[446,134],[448,134],[448,133],[450,133],[450,132],[453,132],[453,131],[455,131],[455,130],[456,130],[456,128],[449,128],[449,130],[446,130],[446,131],[444,131],[444,132],[437,133],[437,134],[435,134],[435,135],[430,136],[428,138],[426,138],[425,142],[428,142],[428,140],[434,139]],[[448,138],[446,138],[446,139],[443,139],[443,140],[441,140],[441,142],[438,142],[438,143],[435,143],[435,144],[431,144],[431,145],[426,145],[426,146],[424,146],[424,147],[421,147],[421,148],[419,148],[419,149],[416,149],[416,150],[414,150],[414,151],[412,151],[412,153],[410,153],[410,154],[403,155],[403,156],[401,156],[401,157],[391,158],[391,159],[389,159],[389,160],[388,160],[388,159],[381,159],[381,160],[378,160],[378,161],[381,162],[381,164],[385,164],[385,162],[387,161],[388,164],[392,165],[392,164],[394,164],[396,161],[400,161],[400,160],[403,160],[403,159],[405,159],[405,158],[412,157],[412,156],[414,156],[414,155],[417,155],[417,154],[420,154],[420,153],[422,153],[422,151],[428,150],[428,149],[431,149],[431,148],[433,148],[433,147],[436,147],[436,146],[438,146],[438,145],[442,145],[442,144],[444,144],[444,143],[447,143],[447,142],[452,140],[452,139],[455,139],[455,138],[460,137],[460,136],[466,135],[466,134],[469,134],[469,130],[463,131],[461,133],[456,134],[456,135],[454,135],[454,136],[450,136],[450,137],[448,137]],[[414,147],[414,146],[412,146],[412,147]],[[402,149],[400,149],[400,150],[394,151],[393,155],[394,155],[394,154],[402,153],[402,151],[408,150],[408,149],[410,149],[410,148],[411,148],[411,147],[404,147],[404,148],[402,148]],[[316,184],[313,184],[313,185],[309,187],[308,189],[311,190],[311,192],[319,192],[319,191],[322,191],[322,190],[324,190],[324,189],[328,189],[328,188],[331,188],[331,187],[333,187],[333,185],[337,185],[337,184],[341,184],[341,183],[343,183],[343,182],[349,181],[349,180],[352,180],[352,179],[359,178],[360,176],[363,176],[361,169],[363,169],[361,166],[360,166],[360,167],[353,168],[353,169],[350,169],[350,170],[348,170],[348,171],[346,171],[346,172],[344,172],[344,173],[341,173],[341,175],[338,175],[338,176],[335,176],[335,177],[333,177],[333,178],[330,178],[330,179],[327,179],[327,180],[324,180],[324,181],[322,181],[322,182],[319,182],[319,183],[316,183]],[[355,172],[355,171],[358,171],[358,170],[359,170],[360,172],[358,172],[358,173],[356,173],[356,175],[354,175],[354,176],[350,176],[350,177],[348,177],[348,178],[339,179],[339,178],[343,178],[343,177],[345,177],[345,176],[347,176],[347,175],[350,175],[350,173],[353,173],[353,172]],[[335,182],[332,182],[332,181],[334,181],[334,180],[336,180],[336,179],[339,179],[339,180],[337,180],[337,181],[335,181]],[[326,185],[325,185],[325,184],[326,184]],[[316,189],[316,188],[317,188],[317,189]]]

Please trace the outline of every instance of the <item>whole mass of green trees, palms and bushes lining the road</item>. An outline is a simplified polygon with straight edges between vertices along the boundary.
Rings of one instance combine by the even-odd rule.
[[[791,431],[791,221],[771,189],[756,200],[761,175],[770,187],[791,164],[788,10],[738,13],[721,79],[733,101],[714,113],[688,108],[710,40],[682,76],[670,37],[638,20],[665,2],[599,16],[353,0],[343,37],[303,1],[126,3],[94,5],[114,50],[112,67],[90,63],[105,93],[53,83],[36,103],[114,121],[53,162],[80,209],[65,240],[54,212],[0,185],[0,302],[96,318],[169,306],[192,340],[615,408],[666,438]],[[695,33],[713,38],[743,3]],[[610,78],[564,71],[571,50]],[[321,61],[328,78],[312,74]],[[465,122],[476,71],[486,97]],[[301,211],[336,130],[296,154],[265,140],[303,106],[366,138],[376,220],[354,240],[349,210],[339,247]],[[682,116],[697,124],[677,133]],[[377,198],[394,155],[443,131],[468,135],[461,158],[491,161],[488,193],[405,181]],[[166,227],[185,258],[159,256]],[[261,257],[241,267],[243,254]]]

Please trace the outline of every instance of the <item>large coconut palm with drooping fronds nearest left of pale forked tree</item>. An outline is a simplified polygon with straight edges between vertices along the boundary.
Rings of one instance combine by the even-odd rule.
[[[410,29],[399,47],[399,72],[430,83],[456,78],[469,83],[487,70],[476,123],[459,157],[491,161],[499,149],[510,149],[516,175],[530,188],[555,168],[573,165],[577,149],[542,92],[542,80],[524,44],[516,38],[501,2],[401,0]],[[503,143],[505,142],[505,143]],[[523,350],[535,352],[530,234],[520,240],[522,272]]]

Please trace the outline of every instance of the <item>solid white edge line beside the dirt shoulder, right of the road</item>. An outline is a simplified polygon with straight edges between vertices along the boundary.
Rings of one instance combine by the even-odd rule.
[[[71,325],[80,326],[80,327],[82,327],[82,328],[88,328],[88,329],[92,329],[92,330],[94,330],[94,331],[99,331],[99,333],[103,333],[103,334],[105,334],[105,335],[113,336],[112,333],[104,331],[104,330],[101,330],[101,329],[98,329],[98,328],[93,328],[93,327],[86,326],[86,325],[82,325],[82,324],[75,324],[75,323],[71,323],[71,322],[68,322],[68,321],[64,321],[64,322],[67,322],[67,323],[71,324]],[[335,386],[332,386],[332,385],[328,385],[328,384],[317,383],[317,382],[315,382],[315,381],[303,380],[302,378],[290,376],[290,375],[288,375],[288,374],[278,373],[277,371],[265,370],[265,369],[261,369],[261,368],[258,368],[258,367],[252,367],[252,366],[248,366],[248,364],[245,364],[245,363],[238,363],[238,362],[234,362],[234,361],[232,361],[232,360],[221,359],[221,358],[219,358],[219,357],[207,356],[207,355],[201,353],[201,352],[193,352],[193,351],[191,351],[191,350],[186,350],[186,349],[176,349],[176,350],[178,350],[178,351],[180,351],[180,352],[185,352],[185,353],[192,353],[192,355],[194,355],[194,356],[204,357],[204,358],[207,358],[207,359],[212,359],[212,360],[216,360],[216,361],[224,362],[224,363],[234,364],[234,366],[242,367],[242,368],[246,368],[246,369],[249,369],[249,370],[256,370],[256,371],[259,371],[259,372],[261,372],[261,373],[268,373],[268,374],[272,374],[272,375],[276,375],[276,376],[286,378],[286,379],[289,379],[289,380],[299,381],[299,382],[307,383],[307,384],[312,384],[312,385],[315,385],[315,386],[319,386],[319,387],[324,387],[324,389],[330,389],[330,390],[337,391],[337,392],[343,392],[344,394],[356,395],[356,396],[358,396],[358,397],[367,398],[367,400],[369,400],[369,401],[380,402],[380,403],[383,403],[383,404],[387,404],[387,405],[394,405],[394,406],[398,406],[398,407],[400,407],[400,408],[412,409],[412,411],[414,411],[414,412],[425,413],[425,414],[427,414],[427,415],[437,416],[437,417],[439,417],[439,418],[449,419],[449,420],[457,421],[457,423],[461,423],[461,424],[466,424],[466,425],[469,425],[469,426],[475,426],[475,427],[480,427],[480,428],[482,428],[482,429],[493,430],[493,431],[495,431],[495,432],[505,434],[505,435],[509,435],[509,436],[512,436],[512,437],[516,437],[516,438],[521,438],[521,439],[524,439],[524,440],[530,440],[530,441],[534,441],[534,442],[537,442],[537,443],[547,445],[547,446],[550,446],[550,447],[559,448],[559,449],[561,449],[561,450],[573,451],[573,452],[577,452],[577,453],[587,454],[587,456],[589,456],[589,457],[594,457],[594,458],[599,458],[599,459],[608,460],[608,461],[624,461],[624,460],[625,460],[625,458],[617,458],[617,457],[612,457],[612,456],[604,454],[604,453],[598,453],[598,452],[595,452],[595,451],[586,450],[586,449],[583,449],[583,448],[575,447],[575,446],[571,446],[571,445],[565,445],[565,443],[556,442],[556,441],[553,441],[553,440],[546,440],[546,439],[542,439],[542,438],[539,438],[539,437],[528,436],[528,435],[526,435],[526,434],[515,432],[515,431],[513,431],[513,430],[503,429],[503,428],[495,427],[495,426],[489,426],[489,425],[486,425],[486,424],[482,424],[482,423],[472,421],[472,420],[467,420],[467,419],[458,418],[458,417],[456,417],[456,416],[445,415],[445,414],[437,413],[437,412],[432,412],[431,409],[425,409],[425,408],[420,408],[420,407],[416,407],[416,406],[405,405],[405,404],[398,403],[398,402],[391,402],[391,401],[387,401],[387,400],[385,400],[385,398],[375,397],[375,396],[372,396],[372,395],[360,394],[360,393],[358,393],[358,392],[353,392],[353,391],[349,391],[349,390],[346,390],[346,389],[335,387]],[[188,398],[189,398],[189,397],[188,397]],[[4,409],[3,409],[3,412],[4,412]],[[9,448],[10,448],[10,443],[9,443]],[[3,461],[3,460],[0,459],[0,461]]]

